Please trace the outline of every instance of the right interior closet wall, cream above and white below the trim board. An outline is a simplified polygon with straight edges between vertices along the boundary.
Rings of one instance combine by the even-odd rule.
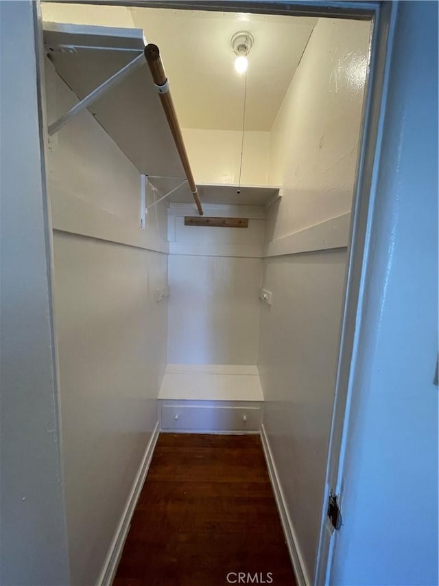
[[[283,256],[264,260],[263,286],[273,297],[272,306],[261,307],[263,425],[309,581],[318,547],[348,244],[344,230],[344,241],[332,248],[323,223],[351,210],[368,34],[367,22],[318,21],[270,142],[269,182],[283,185],[283,198],[270,209],[267,240],[281,246]],[[291,235],[309,227],[311,236],[302,238],[308,249],[293,253]]]

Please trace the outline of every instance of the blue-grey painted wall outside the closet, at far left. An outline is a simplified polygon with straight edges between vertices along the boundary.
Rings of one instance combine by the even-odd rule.
[[[0,582],[69,583],[32,1],[0,2]]]

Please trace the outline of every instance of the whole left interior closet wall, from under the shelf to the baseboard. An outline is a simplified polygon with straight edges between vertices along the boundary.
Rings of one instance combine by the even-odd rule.
[[[75,97],[51,63],[46,69],[53,122]],[[155,301],[167,284],[166,212],[158,205],[141,230],[139,172],[87,111],[50,148],[71,583],[91,584],[156,425],[167,352],[167,302]]]

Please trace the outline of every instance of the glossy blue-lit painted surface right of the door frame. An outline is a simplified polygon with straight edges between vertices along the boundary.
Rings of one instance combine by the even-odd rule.
[[[438,5],[401,2],[331,584],[438,584]]]

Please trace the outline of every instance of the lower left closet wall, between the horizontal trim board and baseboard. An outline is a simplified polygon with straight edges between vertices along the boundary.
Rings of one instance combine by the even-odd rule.
[[[167,256],[59,232],[54,251],[71,582],[89,584],[156,424]]]

